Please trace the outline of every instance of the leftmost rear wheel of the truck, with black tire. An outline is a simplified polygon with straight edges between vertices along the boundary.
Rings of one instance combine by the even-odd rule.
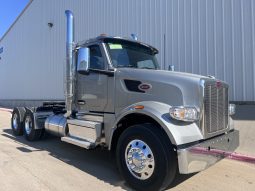
[[[25,114],[25,108],[14,108],[12,112],[11,125],[12,125],[12,133],[15,136],[23,135],[23,118]]]

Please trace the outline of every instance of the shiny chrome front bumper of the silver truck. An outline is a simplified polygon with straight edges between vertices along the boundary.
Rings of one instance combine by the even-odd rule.
[[[202,171],[217,161],[229,156],[239,146],[239,131],[205,140],[197,145],[177,149],[181,174]]]

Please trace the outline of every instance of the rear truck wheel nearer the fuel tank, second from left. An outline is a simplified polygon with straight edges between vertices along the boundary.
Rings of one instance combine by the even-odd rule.
[[[24,116],[24,135],[28,141],[37,141],[40,139],[42,130],[35,129],[34,114],[27,109]]]

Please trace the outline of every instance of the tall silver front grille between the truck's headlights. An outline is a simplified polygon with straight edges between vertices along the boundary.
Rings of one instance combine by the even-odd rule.
[[[205,83],[204,109],[204,125],[208,134],[228,127],[228,86],[226,84],[215,81]]]

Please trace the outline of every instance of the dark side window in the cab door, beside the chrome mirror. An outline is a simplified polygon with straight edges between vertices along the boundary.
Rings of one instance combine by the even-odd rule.
[[[89,46],[90,49],[90,68],[104,70],[104,58],[99,45]]]

